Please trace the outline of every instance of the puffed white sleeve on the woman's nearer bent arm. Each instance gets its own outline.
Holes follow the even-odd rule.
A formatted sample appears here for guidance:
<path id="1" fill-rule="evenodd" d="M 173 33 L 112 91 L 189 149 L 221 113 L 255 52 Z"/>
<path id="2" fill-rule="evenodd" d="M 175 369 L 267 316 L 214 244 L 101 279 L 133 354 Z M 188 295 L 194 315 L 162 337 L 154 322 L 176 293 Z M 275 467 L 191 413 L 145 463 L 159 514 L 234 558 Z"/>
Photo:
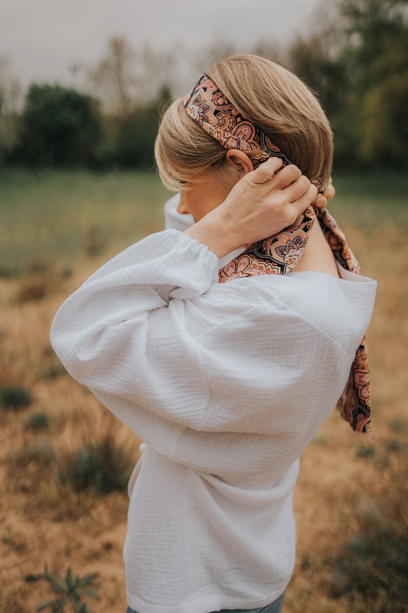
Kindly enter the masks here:
<path id="1" fill-rule="evenodd" d="M 218 257 L 198 240 L 158 232 L 99 268 L 51 326 L 70 375 L 163 453 L 184 425 L 199 425 L 207 403 L 201 349 L 180 306 L 205 292 L 217 270 Z"/>

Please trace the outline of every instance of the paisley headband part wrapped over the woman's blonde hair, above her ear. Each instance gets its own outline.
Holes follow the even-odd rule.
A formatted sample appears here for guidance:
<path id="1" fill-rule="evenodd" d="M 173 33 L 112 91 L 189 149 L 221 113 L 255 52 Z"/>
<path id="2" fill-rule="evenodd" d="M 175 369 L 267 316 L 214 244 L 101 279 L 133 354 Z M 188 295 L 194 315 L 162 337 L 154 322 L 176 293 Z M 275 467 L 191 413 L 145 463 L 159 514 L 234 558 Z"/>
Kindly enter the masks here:
<path id="1" fill-rule="evenodd" d="M 184 107 L 191 119 L 225 149 L 239 149 L 251 156 L 254 169 L 269 158 L 280 158 L 282 167 L 292 164 L 264 131 L 254 126 L 229 102 L 206 73 L 184 97 Z M 311 183 L 320 190 L 320 179 Z"/>

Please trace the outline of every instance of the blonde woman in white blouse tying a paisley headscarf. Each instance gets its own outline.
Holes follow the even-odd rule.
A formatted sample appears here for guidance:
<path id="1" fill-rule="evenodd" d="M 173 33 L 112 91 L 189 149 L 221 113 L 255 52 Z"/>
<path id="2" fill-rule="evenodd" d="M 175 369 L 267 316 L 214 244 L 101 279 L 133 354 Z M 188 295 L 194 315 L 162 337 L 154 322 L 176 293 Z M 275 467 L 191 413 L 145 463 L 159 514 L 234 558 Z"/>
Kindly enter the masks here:
<path id="1" fill-rule="evenodd" d="M 155 147 L 195 223 L 125 249 L 54 319 L 69 373 L 146 441 L 130 481 L 128 611 L 278 613 L 299 456 L 340 397 L 369 431 L 376 282 L 310 207 L 332 149 L 297 77 L 258 56 L 215 64 L 169 107 Z"/>

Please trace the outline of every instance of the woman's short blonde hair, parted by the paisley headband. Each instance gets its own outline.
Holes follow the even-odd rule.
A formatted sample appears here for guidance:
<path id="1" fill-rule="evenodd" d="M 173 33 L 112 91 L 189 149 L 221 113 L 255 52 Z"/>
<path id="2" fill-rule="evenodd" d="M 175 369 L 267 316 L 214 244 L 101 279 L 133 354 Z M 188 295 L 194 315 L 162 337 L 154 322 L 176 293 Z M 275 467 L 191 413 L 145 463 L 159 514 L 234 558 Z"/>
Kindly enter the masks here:
<path id="1" fill-rule="evenodd" d="M 210 79 L 234 106 L 261 128 L 309 179 L 328 184 L 333 134 L 311 90 L 289 70 L 256 55 L 235 55 L 213 64 Z M 226 149 L 187 115 L 183 98 L 166 110 L 155 142 L 155 159 L 171 191 L 210 173 L 225 188 L 239 179 L 226 163 Z M 251 156 L 250 156 L 251 157 Z"/>

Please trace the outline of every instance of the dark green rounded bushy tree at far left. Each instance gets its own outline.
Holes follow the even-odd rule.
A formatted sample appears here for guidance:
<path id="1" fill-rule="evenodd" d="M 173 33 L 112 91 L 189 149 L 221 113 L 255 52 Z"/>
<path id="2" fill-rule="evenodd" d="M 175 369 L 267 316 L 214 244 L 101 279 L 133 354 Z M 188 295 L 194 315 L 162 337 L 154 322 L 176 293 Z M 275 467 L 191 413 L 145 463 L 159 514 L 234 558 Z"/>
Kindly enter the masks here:
<path id="1" fill-rule="evenodd" d="M 21 116 L 17 159 L 50 166 L 87 164 L 99 138 L 97 104 L 90 96 L 59 85 L 31 85 Z"/>

